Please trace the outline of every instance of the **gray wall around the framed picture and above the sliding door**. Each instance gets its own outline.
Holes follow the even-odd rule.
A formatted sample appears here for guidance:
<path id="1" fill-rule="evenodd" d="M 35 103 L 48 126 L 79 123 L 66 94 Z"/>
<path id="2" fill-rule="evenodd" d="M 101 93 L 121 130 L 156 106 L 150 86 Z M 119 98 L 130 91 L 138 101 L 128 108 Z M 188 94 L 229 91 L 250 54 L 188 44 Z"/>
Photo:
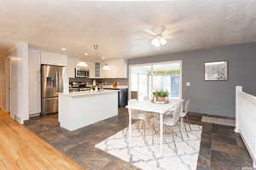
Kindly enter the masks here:
<path id="1" fill-rule="evenodd" d="M 256 95 L 256 42 L 207 48 L 186 53 L 161 54 L 128 59 L 128 64 L 183 61 L 183 99 L 191 98 L 190 111 L 218 116 L 235 116 L 235 87 Z M 204 63 L 228 60 L 228 82 L 205 82 Z M 190 87 L 185 83 L 191 82 Z"/>

